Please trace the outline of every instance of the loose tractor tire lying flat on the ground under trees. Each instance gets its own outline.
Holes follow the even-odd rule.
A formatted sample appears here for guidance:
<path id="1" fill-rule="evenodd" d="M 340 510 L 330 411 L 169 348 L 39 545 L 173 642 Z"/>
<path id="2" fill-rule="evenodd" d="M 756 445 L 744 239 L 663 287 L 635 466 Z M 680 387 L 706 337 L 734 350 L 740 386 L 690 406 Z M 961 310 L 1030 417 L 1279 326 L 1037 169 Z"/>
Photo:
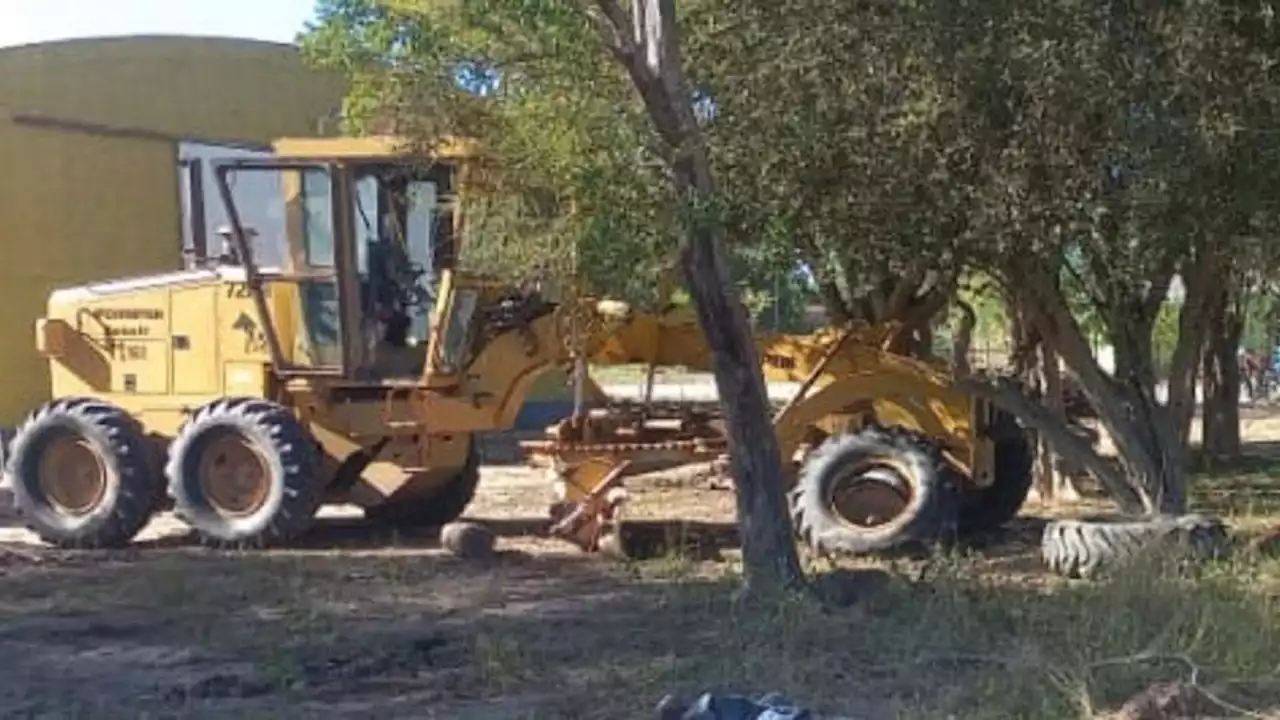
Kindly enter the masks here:
<path id="1" fill-rule="evenodd" d="M 1053 520 L 1041 537 L 1041 556 L 1059 575 L 1096 578 L 1152 547 L 1181 547 L 1207 559 L 1221 557 L 1229 546 L 1226 525 L 1201 514 Z"/>

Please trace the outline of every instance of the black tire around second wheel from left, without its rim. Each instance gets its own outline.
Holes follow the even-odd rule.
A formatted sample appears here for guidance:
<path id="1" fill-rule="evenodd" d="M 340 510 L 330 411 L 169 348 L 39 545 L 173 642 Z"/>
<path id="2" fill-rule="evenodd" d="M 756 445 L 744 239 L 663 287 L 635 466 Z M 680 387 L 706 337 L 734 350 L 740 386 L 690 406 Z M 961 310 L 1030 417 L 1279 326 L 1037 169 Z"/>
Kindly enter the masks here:
<path id="1" fill-rule="evenodd" d="M 210 441 L 223 433 L 247 439 L 269 471 L 268 497 L 243 516 L 220 512 L 201 488 L 198 468 Z M 211 547 L 287 544 L 306 533 L 324 498 L 315 441 L 293 414 L 255 397 L 223 398 L 196 410 L 169 446 L 165 475 L 174 514 Z"/>

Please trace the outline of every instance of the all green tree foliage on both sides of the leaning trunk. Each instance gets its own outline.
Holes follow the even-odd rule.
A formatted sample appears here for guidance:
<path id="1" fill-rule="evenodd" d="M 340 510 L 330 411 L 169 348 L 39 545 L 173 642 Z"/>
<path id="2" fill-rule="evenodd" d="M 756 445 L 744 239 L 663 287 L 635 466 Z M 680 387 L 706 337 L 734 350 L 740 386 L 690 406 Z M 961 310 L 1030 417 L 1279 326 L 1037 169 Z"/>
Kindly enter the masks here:
<path id="1" fill-rule="evenodd" d="M 722 187 L 716 210 L 758 316 L 786 273 L 835 320 L 924 328 L 966 273 L 982 273 L 1098 407 L 1125 462 L 1112 489 L 1181 505 L 1210 291 L 1261 287 L 1275 266 L 1270 5 L 680 8 Z M 558 209 L 535 228 L 495 210 L 516 219 L 495 219 L 480 245 L 513 252 L 516 270 L 575 258 L 595 290 L 662 300 L 678 220 L 662 152 L 585 5 L 325 0 L 319 18 L 305 45 L 357 81 L 356 118 L 390 111 L 420 137 L 479 137 L 502 163 L 490 197 L 544 193 Z M 476 68 L 499 81 L 463 87 Z M 1115 348 L 1114 374 L 1093 359 L 1094 337 Z M 1167 404 L 1155 401 L 1161 375 Z M 1064 429 L 986 391 L 1051 437 Z"/>

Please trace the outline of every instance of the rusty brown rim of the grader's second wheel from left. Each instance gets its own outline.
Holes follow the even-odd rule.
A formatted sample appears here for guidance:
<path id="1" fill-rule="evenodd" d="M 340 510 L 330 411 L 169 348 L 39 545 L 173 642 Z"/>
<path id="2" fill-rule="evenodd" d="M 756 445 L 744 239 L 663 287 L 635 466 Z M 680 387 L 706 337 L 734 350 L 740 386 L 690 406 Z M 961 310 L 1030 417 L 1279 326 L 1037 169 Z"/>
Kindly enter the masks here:
<path id="1" fill-rule="evenodd" d="M 212 438 L 200 455 L 200 489 L 218 512 L 252 515 L 270 492 L 270 470 L 256 445 L 237 432 Z"/>

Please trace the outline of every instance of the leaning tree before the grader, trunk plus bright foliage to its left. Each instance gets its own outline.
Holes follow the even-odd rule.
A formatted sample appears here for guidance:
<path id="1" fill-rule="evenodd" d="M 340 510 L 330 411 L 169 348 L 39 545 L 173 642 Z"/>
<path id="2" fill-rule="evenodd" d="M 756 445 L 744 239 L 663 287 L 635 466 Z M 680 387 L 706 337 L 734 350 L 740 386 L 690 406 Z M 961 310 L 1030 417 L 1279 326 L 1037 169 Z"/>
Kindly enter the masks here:
<path id="1" fill-rule="evenodd" d="M 730 275 L 723 199 L 685 81 L 673 12 L 671 0 L 634 12 L 614 0 L 590 8 L 337 0 L 321 5 L 307 47 L 312 59 L 365 79 L 355 97 L 372 97 L 380 117 L 403 118 L 401 132 L 484 141 L 502 165 L 495 187 L 486 188 L 488 208 L 535 191 L 557 196 L 570 208 L 573 255 L 588 260 L 584 279 L 596 288 L 643 295 L 676 258 L 713 352 L 746 584 L 790 588 L 804 577 L 781 451 L 746 309 Z M 460 68 L 477 64 L 500 77 L 495 96 L 477 97 L 457 81 Z M 499 245 L 515 242 L 527 227 L 516 215 L 512 223 L 511 214 L 494 213 L 472 234 L 499 228 Z M 512 227 L 515 233 L 500 232 Z M 529 261 L 520 258 L 517 265 Z"/>

